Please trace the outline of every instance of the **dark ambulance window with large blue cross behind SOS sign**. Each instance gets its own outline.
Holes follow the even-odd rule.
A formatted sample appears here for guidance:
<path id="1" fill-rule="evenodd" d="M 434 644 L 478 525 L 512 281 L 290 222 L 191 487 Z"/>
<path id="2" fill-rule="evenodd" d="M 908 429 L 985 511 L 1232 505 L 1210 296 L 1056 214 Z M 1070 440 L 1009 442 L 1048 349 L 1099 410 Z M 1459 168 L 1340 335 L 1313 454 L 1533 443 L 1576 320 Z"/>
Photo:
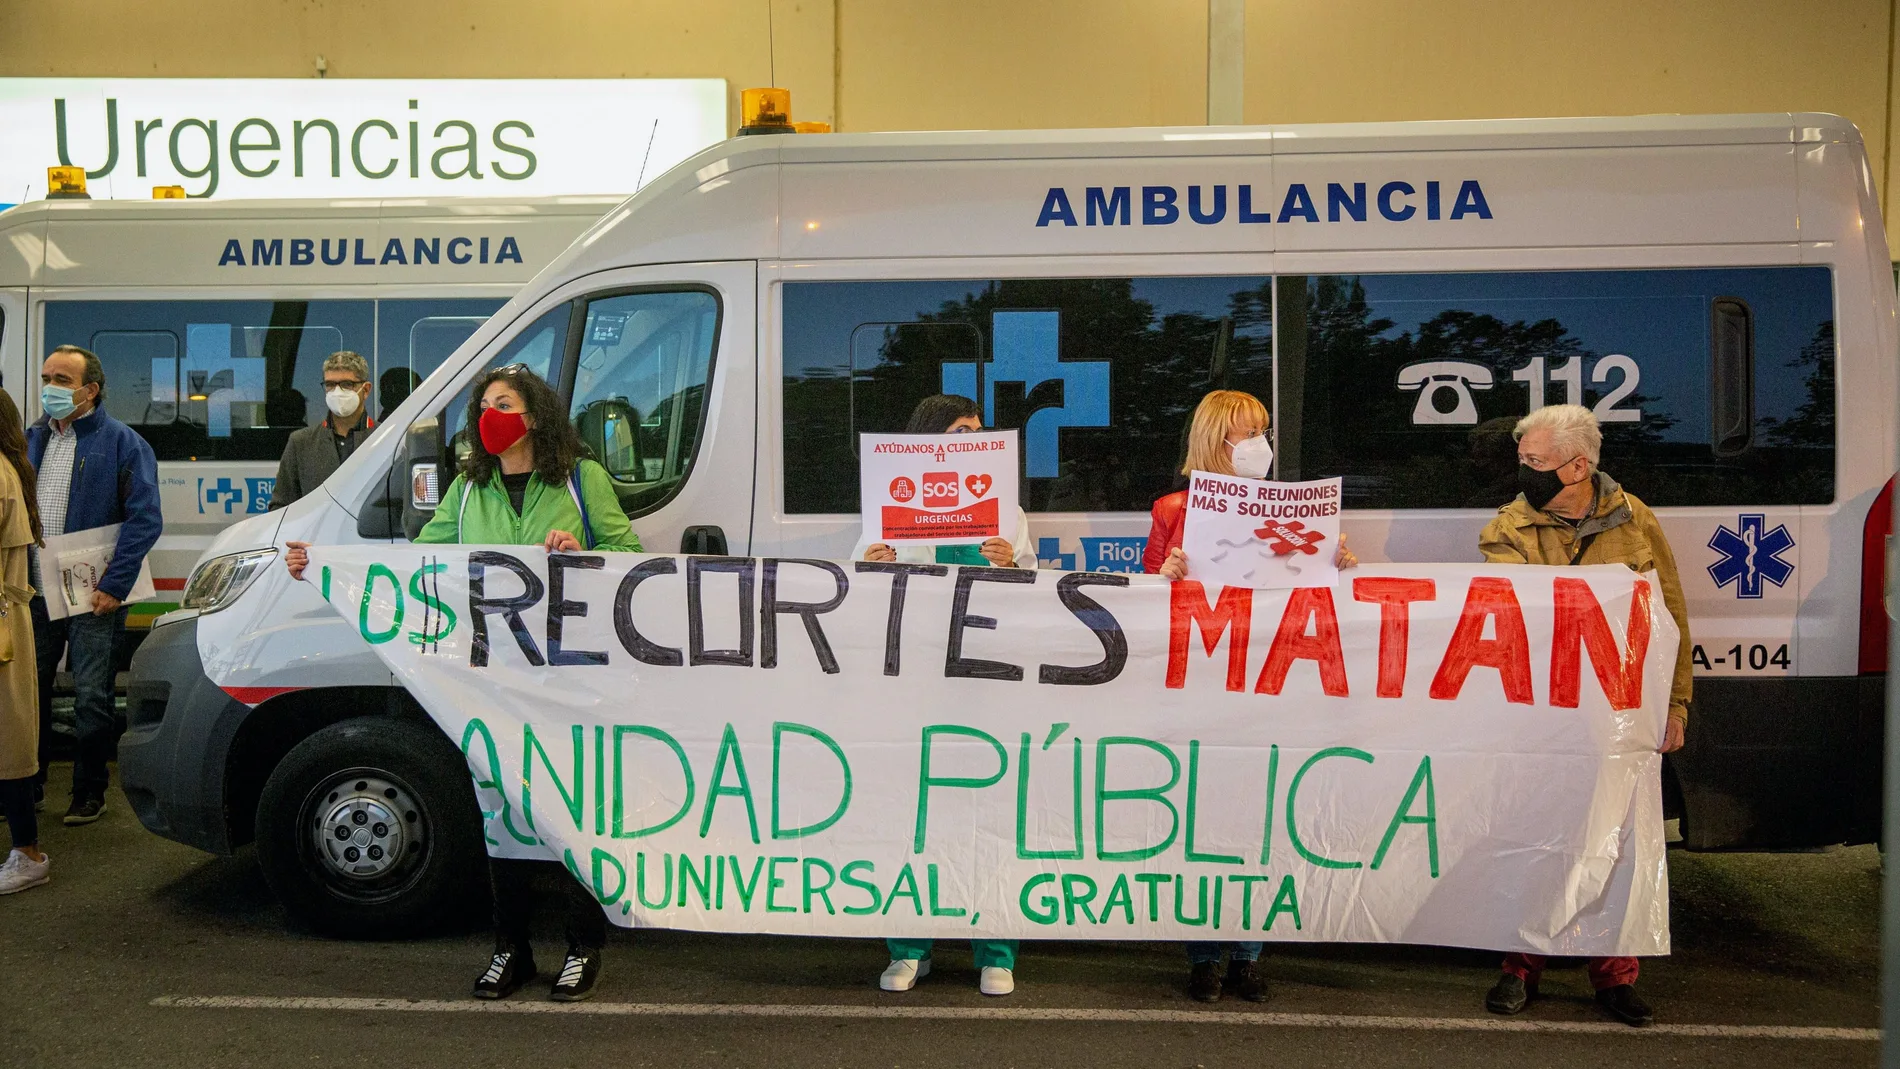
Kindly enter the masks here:
<path id="1" fill-rule="evenodd" d="M 1022 431 L 1022 507 L 1146 513 L 1174 488 L 1193 406 L 1271 406 L 1262 275 L 785 285 L 785 511 L 855 513 L 857 435 L 960 393 Z"/>

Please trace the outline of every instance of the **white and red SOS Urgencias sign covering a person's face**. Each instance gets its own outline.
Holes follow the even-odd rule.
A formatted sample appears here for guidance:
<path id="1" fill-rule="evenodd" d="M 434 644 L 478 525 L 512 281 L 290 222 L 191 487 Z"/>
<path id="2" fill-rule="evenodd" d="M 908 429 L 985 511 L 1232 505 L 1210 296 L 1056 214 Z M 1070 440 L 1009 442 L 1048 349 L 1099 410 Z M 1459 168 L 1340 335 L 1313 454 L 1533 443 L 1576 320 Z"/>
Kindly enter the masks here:
<path id="1" fill-rule="evenodd" d="M 1016 431 L 859 435 L 857 452 L 866 543 L 969 545 L 1015 534 Z"/>

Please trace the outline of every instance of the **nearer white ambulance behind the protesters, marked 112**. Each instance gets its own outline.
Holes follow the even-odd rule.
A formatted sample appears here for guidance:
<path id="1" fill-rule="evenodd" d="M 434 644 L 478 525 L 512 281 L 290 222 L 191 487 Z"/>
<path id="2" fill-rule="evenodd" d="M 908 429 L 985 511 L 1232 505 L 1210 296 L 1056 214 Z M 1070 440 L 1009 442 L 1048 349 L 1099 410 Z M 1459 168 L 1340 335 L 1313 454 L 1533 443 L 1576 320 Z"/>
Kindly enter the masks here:
<path id="1" fill-rule="evenodd" d="M 331 930 L 479 898 L 456 742 L 281 553 L 420 530 L 466 385 L 528 363 L 650 549 L 847 554 L 857 433 L 948 391 L 1022 429 L 1041 564 L 1075 570 L 1138 568 L 1212 387 L 1267 401 L 1279 477 L 1345 478 L 1366 560 L 1474 560 L 1512 422 L 1588 404 L 1687 591 L 1685 845 L 1868 841 L 1894 357 L 1834 116 L 735 139 L 602 218 L 321 494 L 218 535 L 135 663 L 125 792 L 162 835 L 256 839 Z M 336 845 L 359 813 L 372 853 Z"/>

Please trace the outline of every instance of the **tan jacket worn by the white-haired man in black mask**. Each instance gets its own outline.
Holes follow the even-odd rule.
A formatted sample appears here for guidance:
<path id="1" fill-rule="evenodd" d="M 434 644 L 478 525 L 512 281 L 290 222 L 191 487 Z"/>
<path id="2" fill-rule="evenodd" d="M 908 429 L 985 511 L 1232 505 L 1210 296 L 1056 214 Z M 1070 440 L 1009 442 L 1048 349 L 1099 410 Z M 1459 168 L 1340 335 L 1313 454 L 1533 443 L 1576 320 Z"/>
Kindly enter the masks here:
<path id="1" fill-rule="evenodd" d="M 1682 630 L 1682 644 L 1676 647 L 1676 682 L 1670 685 L 1668 714 L 1689 720 L 1689 697 L 1693 676 L 1689 668 L 1689 606 L 1682 598 L 1682 579 L 1676 575 L 1676 554 L 1662 537 L 1662 524 L 1657 522 L 1649 505 L 1634 494 L 1626 494 L 1617 480 L 1596 473 L 1596 513 L 1571 528 L 1564 520 L 1531 509 L 1530 501 L 1518 499 L 1497 509 L 1497 518 L 1484 526 L 1478 535 L 1478 549 L 1490 564 L 1571 564 L 1577 543 L 1596 535 L 1585 549 L 1577 564 L 1628 564 L 1638 573 L 1655 572 L 1662 581 L 1662 604 L 1668 615 L 1676 617 Z"/>

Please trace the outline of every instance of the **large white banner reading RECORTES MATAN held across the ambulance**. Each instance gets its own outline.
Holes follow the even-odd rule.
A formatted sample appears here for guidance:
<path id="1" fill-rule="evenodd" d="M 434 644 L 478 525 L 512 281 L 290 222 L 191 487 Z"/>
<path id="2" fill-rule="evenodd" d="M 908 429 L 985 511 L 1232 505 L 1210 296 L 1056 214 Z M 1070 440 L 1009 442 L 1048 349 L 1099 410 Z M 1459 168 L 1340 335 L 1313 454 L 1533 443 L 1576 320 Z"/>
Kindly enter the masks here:
<path id="1" fill-rule="evenodd" d="M 621 925 L 1668 951 L 1676 627 L 1621 566 L 1338 587 L 317 547 L 490 851 Z"/>

